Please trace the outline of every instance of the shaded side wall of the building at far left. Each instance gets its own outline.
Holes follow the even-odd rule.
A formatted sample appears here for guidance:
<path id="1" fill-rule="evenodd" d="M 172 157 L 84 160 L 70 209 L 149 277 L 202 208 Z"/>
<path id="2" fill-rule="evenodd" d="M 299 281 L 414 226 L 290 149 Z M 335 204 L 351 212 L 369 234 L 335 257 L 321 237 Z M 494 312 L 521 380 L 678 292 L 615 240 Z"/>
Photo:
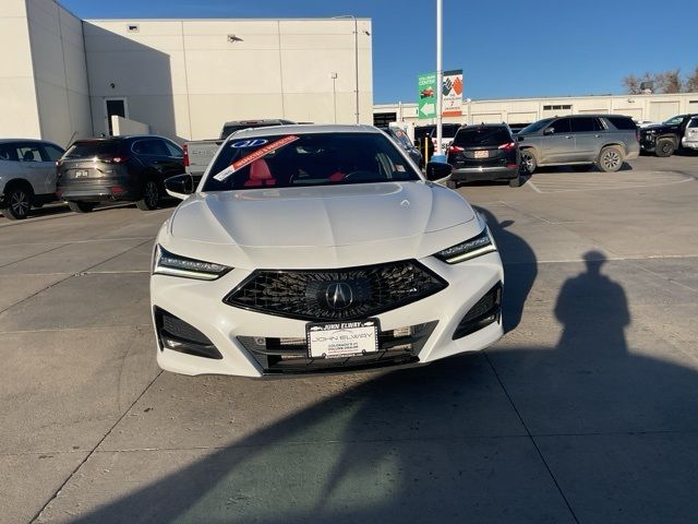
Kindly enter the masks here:
<path id="1" fill-rule="evenodd" d="M 65 147 L 93 134 L 82 21 L 55 0 L 26 0 L 26 15 L 40 136 Z"/>

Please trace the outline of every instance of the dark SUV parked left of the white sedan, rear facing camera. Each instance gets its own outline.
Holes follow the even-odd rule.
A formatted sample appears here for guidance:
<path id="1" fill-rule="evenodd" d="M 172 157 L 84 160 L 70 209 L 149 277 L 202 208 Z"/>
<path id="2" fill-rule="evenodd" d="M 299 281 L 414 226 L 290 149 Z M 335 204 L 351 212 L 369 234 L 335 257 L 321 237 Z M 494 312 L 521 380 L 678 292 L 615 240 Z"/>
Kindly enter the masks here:
<path id="1" fill-rule="evenodd" d="M 57 162 L 56 194 L 77 213 L 104 201 L 154 210 L 166 195 L 165 179 L 184 172 L 182 158 L 180 146 L 161 136 L 79 140 Z"/>

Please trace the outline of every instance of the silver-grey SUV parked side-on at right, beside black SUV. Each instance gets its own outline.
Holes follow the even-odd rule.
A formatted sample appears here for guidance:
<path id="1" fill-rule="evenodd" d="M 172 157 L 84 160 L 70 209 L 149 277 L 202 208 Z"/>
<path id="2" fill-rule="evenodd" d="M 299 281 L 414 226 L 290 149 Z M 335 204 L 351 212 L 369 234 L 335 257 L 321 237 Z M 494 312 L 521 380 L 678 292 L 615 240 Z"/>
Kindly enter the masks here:
<path id="1" fill-rule="evenodd" d="M 544 118 L 517 134 L 521 169 L 532 174 L 539 166 L 571 166 L 586 171 L 594 165 L 617 171 L 625 160 L 640 154 L 638 128 L 621 115 L 574 115 Z"/>

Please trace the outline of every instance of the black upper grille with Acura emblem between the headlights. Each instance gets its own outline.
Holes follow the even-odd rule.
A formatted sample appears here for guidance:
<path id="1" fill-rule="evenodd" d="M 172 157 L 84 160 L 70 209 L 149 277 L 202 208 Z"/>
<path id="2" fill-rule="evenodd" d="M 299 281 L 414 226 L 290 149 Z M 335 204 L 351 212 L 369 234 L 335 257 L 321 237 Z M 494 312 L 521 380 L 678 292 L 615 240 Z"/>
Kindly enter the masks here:
<path id="1" fill-rule="evenodd" d="M 420 300 L 447 285 L 417 261 L 341 270 L 261 270 L 224 302 L 291 319 L 358 320 Z"/>

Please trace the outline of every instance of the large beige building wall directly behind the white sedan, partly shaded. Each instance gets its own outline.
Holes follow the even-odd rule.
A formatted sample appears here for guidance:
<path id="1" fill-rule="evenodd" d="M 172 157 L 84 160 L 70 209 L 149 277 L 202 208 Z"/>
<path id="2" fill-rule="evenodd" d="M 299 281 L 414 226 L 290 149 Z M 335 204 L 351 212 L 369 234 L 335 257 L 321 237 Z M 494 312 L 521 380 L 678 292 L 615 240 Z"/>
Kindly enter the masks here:
<path id="1" fill-rule="evenodd" d="M 226 120 L 373 121 L 371 22 L 358 20 L 85 21 L 95 133 L 105 100 L 173 139 L 208 139 Z M 333 74 L 336 73 L 336 79 Z"/>

